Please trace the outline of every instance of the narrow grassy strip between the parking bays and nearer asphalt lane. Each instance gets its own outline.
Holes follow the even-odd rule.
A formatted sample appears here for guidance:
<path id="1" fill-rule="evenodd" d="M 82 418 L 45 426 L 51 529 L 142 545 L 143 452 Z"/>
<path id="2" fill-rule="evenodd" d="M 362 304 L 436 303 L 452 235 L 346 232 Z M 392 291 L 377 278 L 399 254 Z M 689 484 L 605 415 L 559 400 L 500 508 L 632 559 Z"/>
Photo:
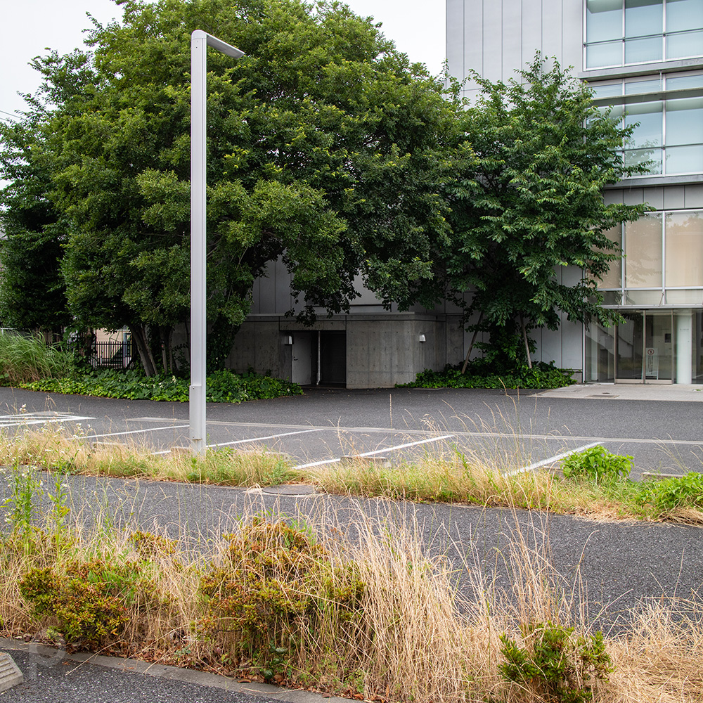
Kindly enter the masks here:
<path id="1" fill-rule="evenodd" d="M 292 466 L 280 453 L 252 444 L 222 446 L 204 458 L 188 451 L 153 453 L 138 444 L 96 444 L 91 432 L 67 437 L 58 427 L 0 436 L 0 465 L 11 472 L 49 470 L 110 477 L 219 484 L 275 486 L 301 482 L 330 494 L 382 496 L 409 501 L 468 503 L 493 507 L 548 510 L 604 519 L 636 518 L 703 524 L 703 475 L 691 473 L 662 481 L 631 482 L 629 460 L 600 446 L 564 453 L 565 476 L 534 463 L 515 471 L 514 460 L 447 444 L 441 436 L 401 444 L 424 453 L 398 463 L 369 460 L 383 450 L 356 458 Z M 441 441 L 440 441 L 441 440 Z M 392 449 L 392 448 L 391 448 Z M 519 463 L 520 464 L 520 463 Z M 609 468 L 614 467 L 614 468 Z M 610 472 L 609 472 L 610 471 Z"/>

